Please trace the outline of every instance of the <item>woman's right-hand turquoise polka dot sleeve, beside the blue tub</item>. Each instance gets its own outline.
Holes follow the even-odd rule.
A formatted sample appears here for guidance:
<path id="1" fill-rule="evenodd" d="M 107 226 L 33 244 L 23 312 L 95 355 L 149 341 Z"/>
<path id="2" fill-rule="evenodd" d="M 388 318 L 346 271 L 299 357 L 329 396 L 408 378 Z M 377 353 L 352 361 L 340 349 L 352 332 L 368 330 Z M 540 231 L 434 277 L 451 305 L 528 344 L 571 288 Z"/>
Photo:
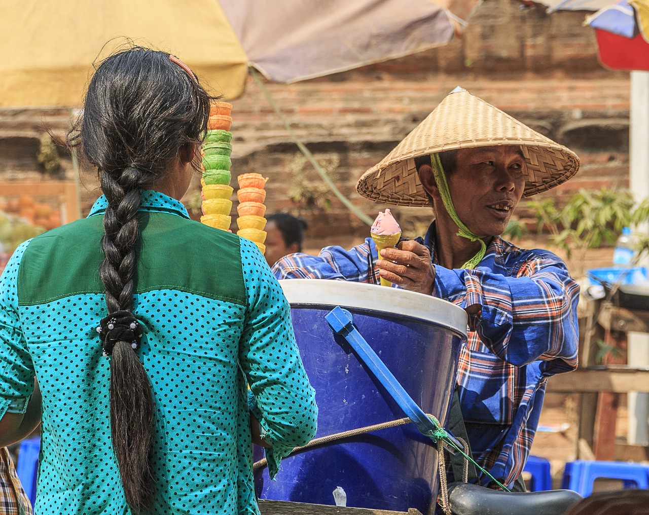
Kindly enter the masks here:
<path id="1" fill-rule="evenodd" d="M 251 387 L 271 478 L 282 457 L 315 435 L 317 407 L 295 343 L 288 301 L 254 243 L 241 238 L 247 293 L 239 362 Z"/>

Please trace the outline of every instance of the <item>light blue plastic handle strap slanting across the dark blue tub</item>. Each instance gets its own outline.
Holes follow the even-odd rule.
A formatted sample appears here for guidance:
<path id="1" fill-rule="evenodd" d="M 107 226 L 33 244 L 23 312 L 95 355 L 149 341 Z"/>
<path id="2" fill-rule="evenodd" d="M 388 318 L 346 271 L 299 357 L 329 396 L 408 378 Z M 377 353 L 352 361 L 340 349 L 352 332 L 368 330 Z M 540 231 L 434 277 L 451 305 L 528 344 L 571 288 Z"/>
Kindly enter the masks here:
<path id="1" fill-rule="evenodd" d="M 358 329 L 354 327 L 352 314 L 347 311 L 347 309 L 343 309 L 337 305 L 332 309 L 332 311 L 327 313 L 324 318 L 334 333 L 341 335 L 345 340 L 347 340 L 352 349 L 356 352 L 356 355 L 358 355 L 358 359 L 360 359 L 361 363 L 364 363 L 367 368 L 372 371 L 374 376 L 376 376 L 376 379 L 378 379 L 387 390 L 388 394 L 395 400 L 406 416 L 408 416 L 408 418 L 410 418 L 410 420 L 412 420 L 417 426 L 417 429 L 419 429 L 422 434 L 432 437 L 433 431 L 435 431 L 437 427 L 435 427 L 435 424 L 433 424 L 432 420 L 426 416 L 426 413 L 422 411 L 417 403 L 412 400 L 411 396 L 397 380 L 397 377 L 393 376 L 386 364 L 383 363 L 382 359 L 378 357 L 378 355 L 376 355 L 376 352 L 374 352 L 373 348 L 371 348 L 367 341 L 365 341 L 361 336 Z M 459 449 L 463 448 L 453 435 L 448 433 L 448 437 L 450 440 L 453 440 L 453 443 L 456 444 Z"/>

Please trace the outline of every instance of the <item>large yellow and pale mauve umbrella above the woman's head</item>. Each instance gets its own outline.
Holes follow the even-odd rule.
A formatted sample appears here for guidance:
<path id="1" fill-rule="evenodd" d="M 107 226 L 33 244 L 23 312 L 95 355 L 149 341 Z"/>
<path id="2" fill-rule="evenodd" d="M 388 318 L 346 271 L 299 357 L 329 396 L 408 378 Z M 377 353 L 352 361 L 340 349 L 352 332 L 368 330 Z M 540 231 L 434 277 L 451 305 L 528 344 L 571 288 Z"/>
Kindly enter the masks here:
<path id="1" fill-rule="evenodd" d="M 134 43 L 235 98 L 248 66 L 293 82 L 442 45 L 478 0 L 3 0 L 0 107 L 79 106 L 92 63 Z"/>

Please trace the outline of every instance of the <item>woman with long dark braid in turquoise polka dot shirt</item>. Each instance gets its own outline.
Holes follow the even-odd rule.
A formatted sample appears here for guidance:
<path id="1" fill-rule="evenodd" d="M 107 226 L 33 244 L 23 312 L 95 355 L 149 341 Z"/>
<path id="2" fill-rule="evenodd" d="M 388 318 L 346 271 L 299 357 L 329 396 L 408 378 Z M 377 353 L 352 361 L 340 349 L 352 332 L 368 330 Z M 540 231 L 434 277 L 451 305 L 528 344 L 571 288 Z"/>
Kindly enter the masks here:
<path id="1" fill-rule="evenodd" d="M 179 202 L 209 112 L 174 56 L 104 60 L 68 138 L 103 196 L 19 246 L 1 278 L 0 446 L 33 427 L 36 377 L 37 514 L 258 514 L 252 439 L 274 475 L 315 433 L 265 259 Z"/>

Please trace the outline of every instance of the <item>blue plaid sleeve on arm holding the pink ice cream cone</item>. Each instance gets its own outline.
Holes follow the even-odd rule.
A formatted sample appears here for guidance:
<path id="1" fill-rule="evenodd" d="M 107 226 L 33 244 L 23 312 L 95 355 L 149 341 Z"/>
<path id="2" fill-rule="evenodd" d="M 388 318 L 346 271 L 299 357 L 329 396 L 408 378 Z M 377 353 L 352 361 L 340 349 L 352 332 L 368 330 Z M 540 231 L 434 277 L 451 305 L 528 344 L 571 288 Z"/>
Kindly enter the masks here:
<path id="1" fill-rule="evenodd" d="M 551 252 L 524 252 L 514 268 L 515 276 L 508 276 L 487 267 L 438 266 L 434 294 L 472 306 L 472 328 L 503 361 L 522 366 L 540 359 L 544 375 L 574 370 L 578 283 Z"/>

